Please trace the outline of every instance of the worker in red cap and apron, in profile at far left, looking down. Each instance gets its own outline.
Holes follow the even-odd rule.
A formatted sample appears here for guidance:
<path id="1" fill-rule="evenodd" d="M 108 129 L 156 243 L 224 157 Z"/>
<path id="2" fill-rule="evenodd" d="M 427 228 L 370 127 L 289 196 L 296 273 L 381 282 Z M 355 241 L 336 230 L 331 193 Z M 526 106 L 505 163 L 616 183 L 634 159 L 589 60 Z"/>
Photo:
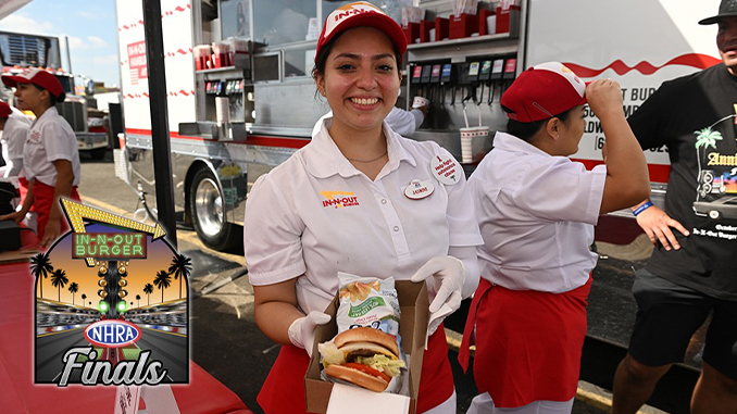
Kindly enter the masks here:
<path id="1" fill-rule="evenodd" d="M 40 247 L 45 248 L 66 227 L 59 198 L 79 200 L 76 190 L 80 176 L 77 140 L 55 108 L 66 96 L 59 79 L 43 70 L 3 75 L 2 81 L 15 88 L 17 106 L 33 112 L 36 121 L 30 125 L 23 148 L 23 174 L 28 181 L 28 191 L 21 210 L 0 216 L 0 219 L 21 222 L 33 206 Z"/>

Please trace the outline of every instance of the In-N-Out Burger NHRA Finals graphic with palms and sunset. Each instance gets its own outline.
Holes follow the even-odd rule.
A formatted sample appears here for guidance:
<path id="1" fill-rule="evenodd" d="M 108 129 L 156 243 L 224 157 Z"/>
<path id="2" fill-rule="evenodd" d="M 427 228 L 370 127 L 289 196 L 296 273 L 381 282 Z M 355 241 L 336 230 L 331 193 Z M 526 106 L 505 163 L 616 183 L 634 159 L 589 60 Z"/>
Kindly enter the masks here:
<path id="1" fill-rule="evenodd" d="M 159 224 L 60 201 L 72 230 L 29 266 L 34 382 L 187 384 L 191 259 Z"/>

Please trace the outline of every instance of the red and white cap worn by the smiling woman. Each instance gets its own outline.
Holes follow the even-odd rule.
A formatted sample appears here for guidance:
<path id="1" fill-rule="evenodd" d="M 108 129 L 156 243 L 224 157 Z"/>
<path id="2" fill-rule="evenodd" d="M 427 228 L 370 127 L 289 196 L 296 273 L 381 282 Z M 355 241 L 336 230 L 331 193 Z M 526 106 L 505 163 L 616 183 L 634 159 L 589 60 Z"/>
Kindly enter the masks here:
<path id="1" fill-rule="evenodd" d="M 317 40 L 315 59 L 320 49 L 327 45 L 336 35 L 353 27 L 373 27 L 385 34 L 399 50 L 400 58 L 407 51 L 404 30 L 389 17 L 382 9 L 366 1 L 357 1 L 336 9 L 325 20 L 323 33 Z"/>

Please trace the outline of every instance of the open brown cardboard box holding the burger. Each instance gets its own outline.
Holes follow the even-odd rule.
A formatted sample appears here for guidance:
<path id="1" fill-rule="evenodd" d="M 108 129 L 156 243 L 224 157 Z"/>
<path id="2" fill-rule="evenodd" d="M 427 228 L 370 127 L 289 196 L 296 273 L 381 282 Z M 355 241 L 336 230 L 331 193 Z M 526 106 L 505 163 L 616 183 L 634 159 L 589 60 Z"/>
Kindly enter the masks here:
<path id="1" fill-rule="evenodd" d="M 396 281 L 397 296 L 399 298 L 399 308 L 401 315 L 399 318 L 399 334 L 402 337 L 402 349 L 404 353 L 411 355 L 410 359 L 410 414 L 414 414 L 417 403 L 417 391 L 420 390 L 420 371 L 422 369 L 422 359 L 425 352 L 425 338 L 427 337 L 427 323 L 429 321 L 429 299 L 427 298 L 427 288 L 425 283 L 414 284 L 409 280 Z M 323 381 L 320 378 L 322 365 L 320 363 L 320 352 L 317 343 L 326 342 L 338 334 L 338 327 L 335 324 L 335 314 L 338 310 L 339 298 L 336 293 L 333 302 L 327 306 L 325 313 L 333 317 L 329 324 L 317 326 L 315 330 L 315 342 L 312 349 L 312 360 L 304 377 L 304 392 L 307 400 L 307 411 L 310 413 L 325 413 L 327 403 L 330 400 L 333 384 Z M 373 392 L 365 390 L 365 392 Z"/>

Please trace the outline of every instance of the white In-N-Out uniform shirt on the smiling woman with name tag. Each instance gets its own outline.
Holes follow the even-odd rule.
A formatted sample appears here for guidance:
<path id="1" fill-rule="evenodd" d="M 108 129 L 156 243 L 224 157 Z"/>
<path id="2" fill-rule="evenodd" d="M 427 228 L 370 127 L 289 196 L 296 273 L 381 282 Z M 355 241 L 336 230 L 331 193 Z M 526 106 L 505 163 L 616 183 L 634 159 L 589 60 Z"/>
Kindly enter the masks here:
<path id="1" fill-rule="evenodd" d="M 430 174 L 430 159 L 451 156 L 446 150 L 402 138 L 384 123 L 389 161 L 372 181 L 342 155 L 325 123 L 248 196 L 243 251 L 252 285 L 303 274 L 299 306 L 322 312 L 338 290 L 339 271 L 409 279 L 451 246 L 482 243 L 465 178 L 446 186 Z M 413 179 L 430 180 L 435 191 L 409 199 Z"/>

